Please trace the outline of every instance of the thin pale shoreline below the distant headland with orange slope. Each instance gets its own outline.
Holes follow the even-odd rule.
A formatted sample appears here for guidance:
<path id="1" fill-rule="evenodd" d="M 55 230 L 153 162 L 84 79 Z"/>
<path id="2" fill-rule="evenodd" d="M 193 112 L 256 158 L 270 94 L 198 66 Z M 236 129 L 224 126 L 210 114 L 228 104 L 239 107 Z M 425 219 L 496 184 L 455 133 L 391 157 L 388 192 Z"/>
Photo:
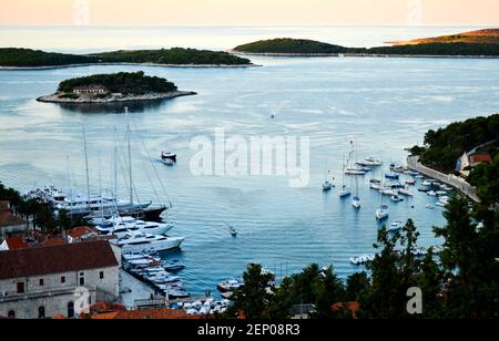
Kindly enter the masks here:
<path id="1" fill-rule="evenodd" d="M 499 55 L 461 55 L 461 54 L 369 54 L 369 53 L 281 53 L 281 52 L 242 52 L 230 50 L 234 55 L 284 56 L 284 58 L 428 58 L 428 59 L 499 59 Z"/>

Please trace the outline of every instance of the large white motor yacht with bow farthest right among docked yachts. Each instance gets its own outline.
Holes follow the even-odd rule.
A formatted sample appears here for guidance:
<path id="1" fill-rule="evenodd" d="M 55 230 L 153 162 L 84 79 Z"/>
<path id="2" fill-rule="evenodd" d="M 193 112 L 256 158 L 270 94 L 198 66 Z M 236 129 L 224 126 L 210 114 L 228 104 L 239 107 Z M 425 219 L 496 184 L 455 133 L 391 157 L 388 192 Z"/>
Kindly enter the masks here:
<path id="1" fill-rule="evenodd" d="M 151 252 L 175 249 L 185 240 L 183 237 L 166 237 L 157 235 L 145 235 L 142 232 L 128 232 L 123 238 L 113 241 L 124 252 Z"/>

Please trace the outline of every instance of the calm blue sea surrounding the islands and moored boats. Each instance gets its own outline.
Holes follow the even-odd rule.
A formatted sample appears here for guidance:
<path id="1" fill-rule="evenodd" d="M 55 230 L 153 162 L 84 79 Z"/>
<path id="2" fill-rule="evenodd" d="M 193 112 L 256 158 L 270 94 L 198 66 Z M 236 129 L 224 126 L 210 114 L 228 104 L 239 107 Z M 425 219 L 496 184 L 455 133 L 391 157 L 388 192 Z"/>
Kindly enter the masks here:
<path id="1" fill-rule="evenodd" d="M 292 37 L 349 46 L 468 31 L 471 27 L 0 27 L 0 46 L 89 53 L 118 49 L 191 46 L 228 50 L 258 39 Z M 128 198 L 126 118 L 123 107 L 82 108 L 38 103 L 59 82 L 77 76 L 144 71 L 181 90 L 197 92 L 130 108 L 135 199 L 173 204 L 163 218 L 174 223 L 182 248 L 162 254 L 180 260 L 180 273 L 193 294 L 215 291 L 227 277 L 241 277 L 258 262 L 278 279 L 307 265 L 334 266 L 342 277 L 361 271 L 350 257 L 373 254 L 380 224 L 380 196 L 369 179 L 383 178 L 388 164 L 405 164 L 405 148 L 424 143 L 428 130 L 499 111 L 499 61 L 418 58 L 261 58 L 259 68 L 175 69 L 101 65 L 72 69 L 0 71 L 0 180 L 27 192 L 53 184 L 85 188 L 83 128 L 86 134 L 93 193 L 118 192 Z M 274 117 L 274 118 L 273 118 Z M 307 177 L 302 187 L 289 176 L 200 175 L 192 161 L 196 142 L 215 133 L 308 141 Z M 361 208 L 340 200 L 342 176 L 352 144 L 355 157 L 375 156 L 385 164 L 358 177 Z M 119 153 L 114 157 L 114 146 Z M 215 149 L 215 147 L 214 147 Z M 175 152 L 179 163 L 164 166 L 161 152 Z M 213 151 L 215 153 L 215 151 Z M 115 162 L 116 161 L 116 162 Z M 309 169 L 308 169 L 309 168 Z M 323 182 L 336 188 L 323 193 Z M 403 176 L 403 180 L 406 176 Z M 440 245 L 432 228 L 442 226 L 436 198 L 416 193 L 390 206 L 386 221 L 413 219 L 419 246 Z M 238 231 L 232 237 L 227 226 Z"/>

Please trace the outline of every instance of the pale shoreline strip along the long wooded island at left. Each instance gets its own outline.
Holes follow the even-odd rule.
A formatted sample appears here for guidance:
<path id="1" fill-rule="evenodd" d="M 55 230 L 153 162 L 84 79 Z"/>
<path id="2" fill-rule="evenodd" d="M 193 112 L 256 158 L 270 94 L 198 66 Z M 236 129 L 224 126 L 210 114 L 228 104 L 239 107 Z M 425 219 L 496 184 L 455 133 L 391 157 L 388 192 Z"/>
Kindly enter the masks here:
<path id="1" fill-rule="evenodd" d="M 177 68 L 177 69 L 245 69 L 245 68 L 261 68 L 256 64 L 156 64 L 156 63 L 83 63 L 83 64 L 68 64 L 68 65 L 47 65 L 47 66 L 0 66 L 0 71 L 37 71 L 37 70 L 57 70 L 70 68 L 86 68 L 86 66 L 154 66 L 154 68 Z"/>

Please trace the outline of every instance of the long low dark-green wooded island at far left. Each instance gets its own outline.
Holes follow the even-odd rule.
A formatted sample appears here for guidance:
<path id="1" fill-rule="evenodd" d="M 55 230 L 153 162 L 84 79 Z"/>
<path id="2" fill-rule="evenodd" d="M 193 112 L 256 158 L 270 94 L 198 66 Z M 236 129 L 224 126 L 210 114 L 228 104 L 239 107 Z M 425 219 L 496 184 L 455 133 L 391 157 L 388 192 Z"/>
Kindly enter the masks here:
<path id="1" fill-rule="evenodd" d="M 94 64 L 139 64 L 176 68 L 247 68 L 249 60 L 227 52 L 195 49 L 131 50 L 65 54 L 30 49 L 0 49 L 1 69 L 54 69 Z"/>

